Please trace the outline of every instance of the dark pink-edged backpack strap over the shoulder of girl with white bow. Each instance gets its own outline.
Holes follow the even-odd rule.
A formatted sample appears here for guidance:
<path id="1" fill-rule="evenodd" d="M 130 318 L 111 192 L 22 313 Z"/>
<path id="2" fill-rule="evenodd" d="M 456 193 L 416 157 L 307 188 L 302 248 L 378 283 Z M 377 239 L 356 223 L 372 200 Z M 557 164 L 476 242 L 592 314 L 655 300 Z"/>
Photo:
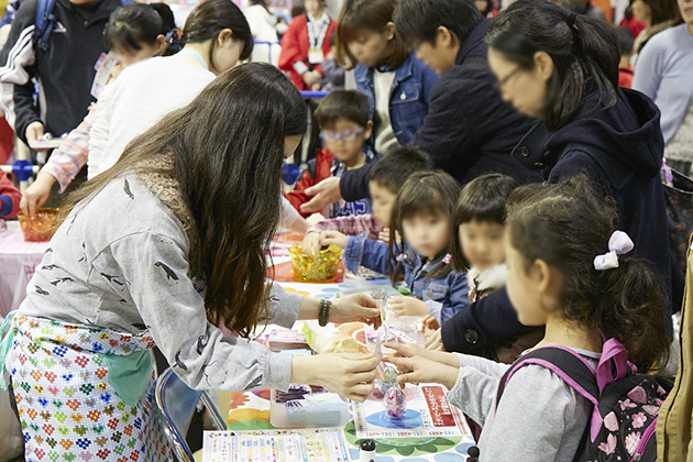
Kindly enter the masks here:
<path id="1" fill-rule="evenodd" d="M 594 369 L 571 349 L 544 346 L 520 356 L 501 378 L 496 393 L 496 408 L 513 375 L 521 367 L 530 364 L 548 369 L 594 406 L 598 405 L 600 387 Z"/>

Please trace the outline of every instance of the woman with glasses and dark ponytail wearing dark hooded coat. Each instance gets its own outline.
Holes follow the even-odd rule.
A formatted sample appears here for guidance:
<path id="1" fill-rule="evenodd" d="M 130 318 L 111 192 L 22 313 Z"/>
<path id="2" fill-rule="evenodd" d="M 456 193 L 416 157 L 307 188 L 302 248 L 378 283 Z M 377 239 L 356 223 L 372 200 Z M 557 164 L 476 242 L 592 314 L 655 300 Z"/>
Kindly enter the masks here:
<path id="1" fill-rule="evenodd" d="M 670 309 L 678 311 L 683 278 L 671 256 L 659 179 L 660 112 L 644 95 L 618 88 L 619 50 L 609 25 L 524 0 L 498 15 L 486 41 L 503 98 L 540 119 L 513 156 L 550 183 L 584 173 L 613 197 L 619 229 L 636 243 L 636 256 L 654 270 Z M 446 323 L 442 340 L 448 351 L 474 352 L 520 332 L 507 295 L 496 293 Z"/>

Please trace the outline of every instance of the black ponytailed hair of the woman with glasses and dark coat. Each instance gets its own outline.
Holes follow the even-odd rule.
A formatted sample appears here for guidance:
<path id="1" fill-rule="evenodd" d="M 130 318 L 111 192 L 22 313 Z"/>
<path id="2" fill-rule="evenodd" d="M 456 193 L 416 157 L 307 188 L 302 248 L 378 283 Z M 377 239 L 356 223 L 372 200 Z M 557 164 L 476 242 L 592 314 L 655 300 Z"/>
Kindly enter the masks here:
<path id="1" fill-rule="evenodd" d="M 575 113 L 587 79 L 596 85 L 601 109 L 616 105 L 620 53 L 614 31 L 602 20 L 546 0 L 522 0 L 496 18 L 486 42 L 526 69 L 534 68 L 538 52 L 551 56 L 553 75 L 543 114 L 549 130 L 565 125 Z"/>

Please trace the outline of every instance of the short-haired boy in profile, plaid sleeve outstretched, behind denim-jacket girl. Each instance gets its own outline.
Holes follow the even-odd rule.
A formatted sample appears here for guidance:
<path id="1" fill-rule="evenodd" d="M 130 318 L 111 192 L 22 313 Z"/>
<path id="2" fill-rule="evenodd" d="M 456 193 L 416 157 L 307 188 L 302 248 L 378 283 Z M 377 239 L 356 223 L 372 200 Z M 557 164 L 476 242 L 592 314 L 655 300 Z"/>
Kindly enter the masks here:
<path id="1" fill-rule="evenodd" d="M 369 239 L 389 242 L 389 220 L 397 194 L 415 172 L 433 168 L 430 157 L 415 147 L 397 147 L 383 157 L 370 172 L 369 189 L 372 215 L 341 217 L 321 221 L 308 230 L 304 249 L 310 252 L 321 246 L 322 233 L 337 231 L 344 235 L 369 233 Z"/>

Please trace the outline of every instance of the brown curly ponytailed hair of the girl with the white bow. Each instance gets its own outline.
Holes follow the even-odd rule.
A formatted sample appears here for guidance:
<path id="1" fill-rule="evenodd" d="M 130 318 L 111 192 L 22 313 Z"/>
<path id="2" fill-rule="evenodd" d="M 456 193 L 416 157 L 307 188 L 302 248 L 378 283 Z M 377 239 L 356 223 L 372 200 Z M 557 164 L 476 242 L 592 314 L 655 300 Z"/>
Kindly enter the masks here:
<path id="1" fill-rule="evenodd" d="M 584 175 L 560 184 L 529 185 L 508 199 L 508 233 L 526 267 L 542 260 L 564 277 L 561 315 L 626 346 L 640 371 L 663 367 L 669 354 L 669 309 L 650 266 L 619 255 L 619 267 L 596 271 L 616 230 L 613 198 Z"/>

